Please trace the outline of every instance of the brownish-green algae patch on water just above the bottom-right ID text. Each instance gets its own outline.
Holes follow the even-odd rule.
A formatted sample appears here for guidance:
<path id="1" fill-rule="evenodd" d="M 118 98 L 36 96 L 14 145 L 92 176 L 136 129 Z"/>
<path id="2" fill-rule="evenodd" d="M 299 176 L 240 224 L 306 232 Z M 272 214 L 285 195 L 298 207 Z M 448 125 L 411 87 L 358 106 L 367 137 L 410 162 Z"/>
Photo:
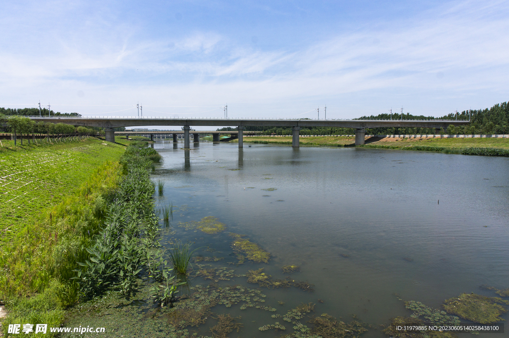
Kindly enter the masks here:
<path id="1" fill-rule="evenodd" d="M 501 321 L 499 316 L 507 309 L 501 304 L 509 301 L 499 297 L 485 297 L 475 293 L 462 293 L 459 297 L 446 299 L 443 303 L 445 311 L 475 323 L 490 324 Z"/>

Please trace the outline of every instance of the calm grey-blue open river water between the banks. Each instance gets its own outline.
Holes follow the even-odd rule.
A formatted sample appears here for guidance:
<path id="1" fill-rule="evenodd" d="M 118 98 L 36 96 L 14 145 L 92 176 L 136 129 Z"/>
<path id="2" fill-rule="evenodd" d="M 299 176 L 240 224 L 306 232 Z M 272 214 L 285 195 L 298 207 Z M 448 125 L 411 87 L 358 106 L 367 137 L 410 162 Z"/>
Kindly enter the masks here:
<path id="1" fill-rule="evenodd" d="M 154 175 L 165 181 L 163 203 L 185 205 L 174 211 L 176 236 L 215 248 L 213 255 L 225 257 L 221 264 L 236 262 L 228 232 L 245 234 L 271 253 L 269 264 L 231 266 L 238 274 L 264 267 L 284 278 L 281 266 L 300 265 L 292 276 L 314 284 L 315 292 L 264 289 L 266 305 L 286 302 L 278 308 L 281 315 L 315 302 L 317 315 L 350 321 L 355 314 L 378 326 L 410 315 L 398 297 L 440 308 L 463 292 L 496 296 L 482 285 L 509 287 L 507 158 L 269 145 L 239 150 L 212 143 L 186 156 L 182 146 L 154 145 L 164 157 Z M 263 190 L 268 188 L 276 190 Z M 177 227 L 205 216 L 227 224 L 227 232 Z M 197 278 L 194 284 L 207 282 Z M 247 285 L 245 277 L 223 284 Z M 242 316 L 249 336 L 274 336 L 274 330 L 258 327 L 289 324 L 238 306 L 213 311 Z"/>

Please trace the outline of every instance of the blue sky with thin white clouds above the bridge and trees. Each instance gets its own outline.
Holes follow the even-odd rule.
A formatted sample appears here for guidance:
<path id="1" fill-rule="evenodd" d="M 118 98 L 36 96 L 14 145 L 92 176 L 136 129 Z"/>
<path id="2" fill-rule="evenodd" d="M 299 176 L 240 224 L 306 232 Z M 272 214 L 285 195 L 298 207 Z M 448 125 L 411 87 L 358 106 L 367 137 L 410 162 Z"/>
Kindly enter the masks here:
<path id="1" fill-rule="evenodd" d="M 489 0 L 3 0 L 0 107 L 438 117 L 509 100 L 508 14 Z"/>

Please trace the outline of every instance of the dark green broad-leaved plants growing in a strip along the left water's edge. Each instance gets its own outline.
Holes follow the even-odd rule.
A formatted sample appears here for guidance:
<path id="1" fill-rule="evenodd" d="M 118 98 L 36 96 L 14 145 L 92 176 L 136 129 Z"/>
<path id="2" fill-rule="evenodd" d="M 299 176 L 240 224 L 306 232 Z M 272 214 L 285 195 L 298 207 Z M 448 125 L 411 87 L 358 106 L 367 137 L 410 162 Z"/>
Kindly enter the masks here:
<path id="1" fill-rule="evenodd" d="M 172 269 L 166 267 L 162 251 L 157 248 L 159 218 L 152 199 L 154 184 L 149 177 L 152 165 L 149 155 L 153 155 L 150 150 L 130 146 L 121 158 L 125 176 L 116 199 L 94 244 L 87 247 L 89 259 L 79 263 L 75 270 L 74 279 L 84 298 L 99 295 L 110 287 L 129 295 L 137 289 L 142 271 L 149 280 L 157 282 L 151 291 L 161 306 L 171 301 L 176 292 L 178 284 L 173 282 Z"/>

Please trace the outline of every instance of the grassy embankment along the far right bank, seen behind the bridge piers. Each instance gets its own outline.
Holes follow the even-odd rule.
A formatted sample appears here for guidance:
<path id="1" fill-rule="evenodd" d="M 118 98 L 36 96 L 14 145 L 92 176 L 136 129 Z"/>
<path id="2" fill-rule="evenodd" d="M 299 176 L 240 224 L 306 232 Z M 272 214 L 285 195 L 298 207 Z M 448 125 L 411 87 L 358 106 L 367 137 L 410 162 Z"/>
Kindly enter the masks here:
<path id="1" fill-rule="evenodd" d="M 238 140 L 232 140 L 231 143 L 237 143 Z M 291 136 L 253 136 L 244 137 L 245 143 L 263 143 L 263 144 L 292 144 Z M 311 136 L 300 137 L 302 146 L 335 146 L 346 147 L 353 146 L 355 137 L 349 136 Z M 465 155 L 495 155 L 509 156 L 509 138 L 396 138 L 386 137 L 373 143 L 363 146 L 363 148 L 380 149 L 400 149 L 433 151 L 444 153 L 455 153 Z"/>

